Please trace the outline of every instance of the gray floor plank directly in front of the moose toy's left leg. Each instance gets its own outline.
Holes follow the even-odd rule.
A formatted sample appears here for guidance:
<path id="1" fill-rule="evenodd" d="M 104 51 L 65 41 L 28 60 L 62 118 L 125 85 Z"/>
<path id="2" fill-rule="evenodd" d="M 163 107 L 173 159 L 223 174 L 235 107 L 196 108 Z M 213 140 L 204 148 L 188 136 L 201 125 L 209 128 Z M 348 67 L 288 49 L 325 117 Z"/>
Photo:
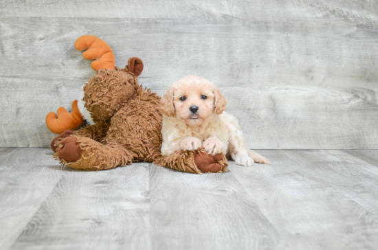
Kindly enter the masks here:
<path id="1" fill-rule="evenodd" d="M 65 170 L 11 249 L 151 249 L 148 163 Z"/>

